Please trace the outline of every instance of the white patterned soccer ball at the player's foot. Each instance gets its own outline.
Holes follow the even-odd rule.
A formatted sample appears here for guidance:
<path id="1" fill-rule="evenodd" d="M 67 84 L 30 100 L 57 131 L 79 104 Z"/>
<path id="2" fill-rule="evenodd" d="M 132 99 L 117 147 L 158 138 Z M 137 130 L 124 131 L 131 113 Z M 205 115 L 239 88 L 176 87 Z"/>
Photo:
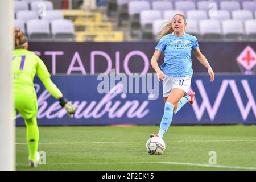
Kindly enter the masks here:
<path id="1" fill-rule="evenodd" d="M 166 143 L 164 140 L 159 137 L 152 137 L 147 140 L 146 150 L 148 154 L 163 154 L 164 150 L 166 150 Z"/>

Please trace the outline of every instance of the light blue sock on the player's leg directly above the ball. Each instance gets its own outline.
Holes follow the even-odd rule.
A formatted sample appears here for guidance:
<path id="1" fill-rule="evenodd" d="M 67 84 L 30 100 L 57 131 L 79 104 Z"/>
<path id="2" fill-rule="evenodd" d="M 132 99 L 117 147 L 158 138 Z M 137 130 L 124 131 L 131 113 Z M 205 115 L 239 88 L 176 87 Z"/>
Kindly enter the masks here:
<path id="1" fill-rule="evenodd" d="M 172 122 L 172 116 L 174 115 L 174 105 L 171 102 L 166 102 L 164 105 L 164 115 L 160 123 L 159 137 L 163 138 L 164 133 L 168 130 Z"/>

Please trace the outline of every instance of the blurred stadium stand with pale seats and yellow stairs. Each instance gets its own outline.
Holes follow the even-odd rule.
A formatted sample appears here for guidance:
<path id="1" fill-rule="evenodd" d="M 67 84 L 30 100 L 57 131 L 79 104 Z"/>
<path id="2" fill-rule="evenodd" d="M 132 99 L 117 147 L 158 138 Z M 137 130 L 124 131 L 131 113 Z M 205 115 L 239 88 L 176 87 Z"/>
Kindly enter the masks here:
<path id="1" fill-rule="evenodd" d="M 63 2 L 67 3 L 67 1 Z M 65 3 L 55 9 L 57 5 L 53 0 L 16 0 L 15 26 L 22 28 L 28 34 L 28 20 L 47 20 L 50 39 L 54 41 L 59 38 L 53 34 L 51 23 L 54 20 L 66 19 L 73 22 L 73 37 L 78 42 L 153 40 L 156 32 L 159 31 L 157 26 L 160 22 L 171 20 L 175 14 L 183 14 L 188 21 L 187 32 L 198 36 L 201 40 L 255 39 L 253 26 L 256 18 L 255 0 L 95 0 L 95 2 L 95 7 L 90 8 L 84 5 L 88 1 L 84 1 L 81 6 L 76 1 L 76 9 L 67 9 Z M 40 3 L 44 3 L 46 7 L 45 14 L 38 9 Z M 242 22 L 237 23 L 240 21 Z M 207 26 L 206 23 L 217 23 L 217 25 Z M 231 30 L 228 28 L 229 26 L 237 28 L 234 24 L 239 24 L 237 25 L 239 30 L 243 30 L 236 36 L 229 32 Z M 68 40 L 73 39 L 70 37 Z"/>

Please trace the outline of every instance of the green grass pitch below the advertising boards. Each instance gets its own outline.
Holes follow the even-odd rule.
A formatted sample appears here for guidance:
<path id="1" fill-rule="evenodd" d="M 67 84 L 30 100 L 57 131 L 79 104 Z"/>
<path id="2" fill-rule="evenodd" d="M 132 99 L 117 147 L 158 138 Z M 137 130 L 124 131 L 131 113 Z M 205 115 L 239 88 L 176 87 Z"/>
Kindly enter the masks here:
<path id="1" fill-rule="evenodd" d="M 158 126 L 39 127 L 46 164 L 27 167 L 26 128 L 16 127 L 16 170 L 256 170 L 256 126 L 171 126 L 166 151 L 149 155 Z M 210 151 L 216 165 L 209 164 Z"/>

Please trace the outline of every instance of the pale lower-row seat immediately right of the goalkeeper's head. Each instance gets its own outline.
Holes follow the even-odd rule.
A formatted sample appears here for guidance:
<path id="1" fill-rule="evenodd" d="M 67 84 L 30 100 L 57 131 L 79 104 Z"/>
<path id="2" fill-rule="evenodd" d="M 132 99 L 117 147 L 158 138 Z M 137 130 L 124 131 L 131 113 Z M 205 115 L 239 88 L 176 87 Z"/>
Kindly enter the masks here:
<path id="1" fill-rule="evenodd" d="M 30 41 L 51 40 L 49 22 L 47 20 L 32 19 L 27 21 L 27 35 Z"/>

